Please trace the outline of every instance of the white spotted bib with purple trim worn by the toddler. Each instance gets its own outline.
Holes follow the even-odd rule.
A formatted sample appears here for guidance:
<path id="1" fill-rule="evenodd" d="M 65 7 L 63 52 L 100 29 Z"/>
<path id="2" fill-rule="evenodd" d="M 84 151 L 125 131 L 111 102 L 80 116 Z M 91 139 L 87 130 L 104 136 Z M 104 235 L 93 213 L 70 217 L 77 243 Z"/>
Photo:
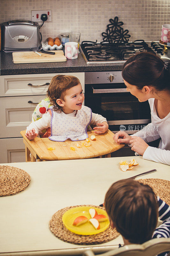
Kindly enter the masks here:
<path id="1" fill-rule="evenodd" d="M 92 110 L 86 106 L 82 106 L 77 111 L 76 116 L 69 116 L 63 112 L 58 113 L 51 110 L 51 136 L 48 138 L 54 141 L 65 141 L 70 139 L 72 141 L 85 140 L 88 138 L 87 126 L 92 120 Z"/>

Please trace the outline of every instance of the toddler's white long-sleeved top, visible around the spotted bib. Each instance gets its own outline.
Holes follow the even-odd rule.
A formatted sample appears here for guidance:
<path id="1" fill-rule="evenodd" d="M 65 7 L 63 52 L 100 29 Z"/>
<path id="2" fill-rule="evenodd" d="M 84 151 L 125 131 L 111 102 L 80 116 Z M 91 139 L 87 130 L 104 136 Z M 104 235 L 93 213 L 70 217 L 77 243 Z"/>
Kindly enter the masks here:
<path id="1" fill-rule="evenodd" d="M 76 110 L 73 113 L 67 114 L 68 116 L 76 116 Z M 107 122 L 106 118 L 99 115 L 92 113 L 92 120 L 90 124 L 99 126 L 97 123 Z M 51 115 L 49 112 L 45 113 L 39 120 L 32 122 L 29 126 L 26 127 L 26 132 L 29 130 L 35 129 L 36 133 L 41 132 L 44 129 L 51 127 Z"/>

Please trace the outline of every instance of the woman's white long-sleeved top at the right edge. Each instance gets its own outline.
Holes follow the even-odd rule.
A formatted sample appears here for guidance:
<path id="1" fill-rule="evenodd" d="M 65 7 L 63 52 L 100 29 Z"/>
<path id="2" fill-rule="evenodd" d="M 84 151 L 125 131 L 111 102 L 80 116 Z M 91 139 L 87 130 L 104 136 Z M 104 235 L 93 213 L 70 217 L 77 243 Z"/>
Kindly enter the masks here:
<path id="1" fill-rule="evenodd" d="M 146 143 L 161 138 L 159 147 L 147 147 L 143 158 L 157 163 L 170 165 L 170 112 L 163 119 L 157 116 L 154 98 L 149 99 L 151 108 L 151 124 L 146 125 L 141 131 L 132 136 L 142 138 Z"/>

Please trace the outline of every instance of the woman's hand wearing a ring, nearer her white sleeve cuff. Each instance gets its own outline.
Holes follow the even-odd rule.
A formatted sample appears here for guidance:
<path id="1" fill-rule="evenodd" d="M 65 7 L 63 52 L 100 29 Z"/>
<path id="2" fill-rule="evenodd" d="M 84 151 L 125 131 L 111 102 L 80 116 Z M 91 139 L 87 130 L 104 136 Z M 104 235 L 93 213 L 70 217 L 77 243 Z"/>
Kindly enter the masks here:
<path id="1" fill-rule="evenodd" d="M 141 156 L 144 155 L 144 151 L 147 147 L 149 147 L 149 145 L 144 140 L 137 136 L 132 136 L 129 143 L 132 146 L 131 150 L 137 152 Z"/>

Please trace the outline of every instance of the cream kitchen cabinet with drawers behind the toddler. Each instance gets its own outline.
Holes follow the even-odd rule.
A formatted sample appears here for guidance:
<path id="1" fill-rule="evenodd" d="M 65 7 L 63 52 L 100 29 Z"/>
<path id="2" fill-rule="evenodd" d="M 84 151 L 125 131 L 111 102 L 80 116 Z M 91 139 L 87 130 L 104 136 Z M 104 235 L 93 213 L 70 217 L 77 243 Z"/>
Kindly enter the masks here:
<path id="1" fill-rule="evenodd" d="M 58 74 L 0 76 L 0 163 L 25 162 L 20 131 L 30 124 L 34 108 L 46 98 L 49 83 Z M 85 73 L 62 73 L 66 74 L 78 77 L 84 92 Z"/>

